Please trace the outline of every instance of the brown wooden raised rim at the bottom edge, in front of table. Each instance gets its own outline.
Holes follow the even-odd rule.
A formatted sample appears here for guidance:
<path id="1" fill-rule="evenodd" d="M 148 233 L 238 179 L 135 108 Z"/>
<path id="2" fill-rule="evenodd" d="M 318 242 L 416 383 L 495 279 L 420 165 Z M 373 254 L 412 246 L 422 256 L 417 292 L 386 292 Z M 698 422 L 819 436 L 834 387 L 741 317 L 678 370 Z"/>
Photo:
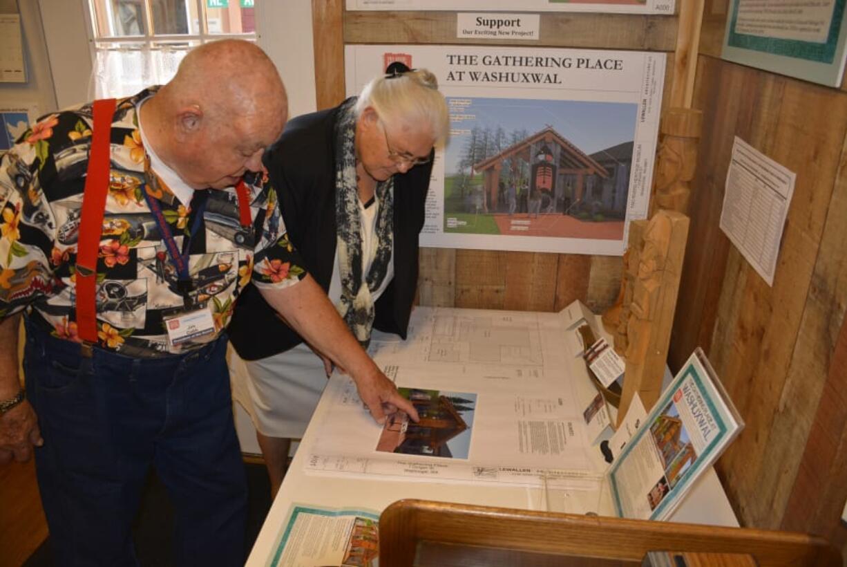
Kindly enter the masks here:
<path id="1" fill-rule="evenodd" d="M 418 542 L 640 561 L 649 551 L 749 553 L 761 567 L 840 567 L 817 536 L 401 500 L 379 520 L 379 564 L 412 565 Z"/>

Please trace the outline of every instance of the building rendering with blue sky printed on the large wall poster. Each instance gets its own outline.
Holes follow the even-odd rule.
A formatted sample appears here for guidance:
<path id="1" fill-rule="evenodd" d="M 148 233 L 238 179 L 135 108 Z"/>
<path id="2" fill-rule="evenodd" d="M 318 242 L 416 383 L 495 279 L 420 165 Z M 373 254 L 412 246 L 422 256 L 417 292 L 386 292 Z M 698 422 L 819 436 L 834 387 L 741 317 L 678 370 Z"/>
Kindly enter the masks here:
<path id="1" fill-rule="evenodd" d="M 619 240 L 638 105 L 448 97 L 444 231 Z"/>

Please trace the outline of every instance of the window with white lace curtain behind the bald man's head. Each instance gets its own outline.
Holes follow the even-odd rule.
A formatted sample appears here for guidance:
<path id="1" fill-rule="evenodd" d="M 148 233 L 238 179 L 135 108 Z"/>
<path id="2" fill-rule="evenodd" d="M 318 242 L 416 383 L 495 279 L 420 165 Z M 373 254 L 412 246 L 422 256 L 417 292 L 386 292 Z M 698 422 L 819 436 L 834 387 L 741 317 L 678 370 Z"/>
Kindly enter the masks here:
<path id="1" fill-rule="evenodd" d="M 255 0 L 89 0 L 91 97 L 126 97 L 170 81 L 192 47 L 256 41 Z"/>

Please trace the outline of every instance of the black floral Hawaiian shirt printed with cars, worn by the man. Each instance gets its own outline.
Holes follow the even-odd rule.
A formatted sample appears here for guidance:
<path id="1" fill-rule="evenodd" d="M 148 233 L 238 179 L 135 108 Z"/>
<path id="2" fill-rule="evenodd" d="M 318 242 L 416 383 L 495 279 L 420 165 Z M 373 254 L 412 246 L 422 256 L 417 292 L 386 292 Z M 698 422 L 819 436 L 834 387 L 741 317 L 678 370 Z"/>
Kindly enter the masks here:
<path id="1" fill-rule="evenodd" d="M 100 346 L 136 357 L 185 352 L 171 347 L 163 318 L 184 306 L 178 274 L 144 192 L 158 198 L 177 245 L 194 224 L 185 207 L 147 172 L 136 106 L 156 88 L 118 102 L 111 132 L 111 170 L 97 261 Z M 0 320 L 31 307 L 33 320 L 70 341 L 75 323 L 75 263 L 80 209 L 91 146 L 91 104 L 49 114 L 0 158 Z M 291 247 L 266 178 L 246 175 L 252 227 L 241 226 L 235 188 L 207 190 L 191 235 L 192 303 L 211 309 L 216 331 L 229 323 L 235 298 L 251 281 L 285 287 L 306 275 Z"/>

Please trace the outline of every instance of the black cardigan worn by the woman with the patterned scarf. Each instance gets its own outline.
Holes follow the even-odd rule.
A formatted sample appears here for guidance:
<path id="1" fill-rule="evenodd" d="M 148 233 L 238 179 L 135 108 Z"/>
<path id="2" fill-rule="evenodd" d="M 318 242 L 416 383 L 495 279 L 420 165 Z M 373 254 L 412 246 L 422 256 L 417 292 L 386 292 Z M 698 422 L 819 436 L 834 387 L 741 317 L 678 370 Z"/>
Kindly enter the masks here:
<path id="1" fill-rule="evenodd" d="M 264 156 L 291 243 L 318 284 L 329 291 L 335 259 L 335 122 L 340 107 L 304 114 L 285 125 Z M 406 338 L 418 283 L 418 234 L 432 163 L 394 176 L 394 279 L 375 304 L 374 327 Z M 302 337 L 276 316 L 252 284 L 235 303 L 230 341 L 242 359 L 282 353 Z"/>

